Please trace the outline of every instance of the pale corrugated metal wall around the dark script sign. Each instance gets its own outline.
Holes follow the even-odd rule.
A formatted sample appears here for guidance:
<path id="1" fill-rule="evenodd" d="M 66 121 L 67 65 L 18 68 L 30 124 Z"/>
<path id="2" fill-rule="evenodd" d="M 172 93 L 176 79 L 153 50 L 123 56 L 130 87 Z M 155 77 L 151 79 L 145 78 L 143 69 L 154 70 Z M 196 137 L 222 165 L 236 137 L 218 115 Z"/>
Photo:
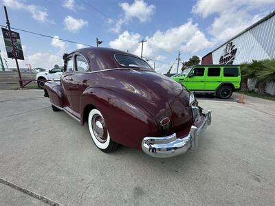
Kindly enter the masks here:
<path id="1" fill-rule="evenodd" d="M 275 58 L 275 16 L 232 39 L 232 43 L 237 48 L 234 64 Z M 219 64 L 225 46 L 212 52 L 213 64 Z M 275 95 L 275 84 L 268 84 L 266 92 Z"/>

